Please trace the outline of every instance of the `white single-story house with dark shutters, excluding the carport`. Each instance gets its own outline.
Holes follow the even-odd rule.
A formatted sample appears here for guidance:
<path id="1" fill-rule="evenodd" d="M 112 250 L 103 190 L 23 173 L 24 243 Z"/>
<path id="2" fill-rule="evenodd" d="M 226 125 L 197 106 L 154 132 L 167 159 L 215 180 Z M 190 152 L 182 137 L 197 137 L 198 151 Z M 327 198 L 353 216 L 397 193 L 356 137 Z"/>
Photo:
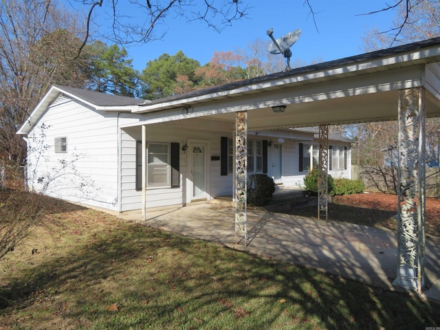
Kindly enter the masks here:
<path id="1" fill-rule="evenodd" d="M 19 131 L 27 135 L 30 149 L 29 184 L 90 206 L 142 209 L 140 123 L 149 115 L 139 110 L 152 103 L 52 86 Z M 147 209 L 186 206 L 234 192 L 234 124 L 209 115 L 195 118 L 188 106 L 178 111 L 177 120 L 157 120 L 146 129 Z M 283 113 L 271 109 L 267 116 Z M 289 126 L 250 129 L 248 175 L 265 173 L 277 186 L 303 186 L 309 168 L 318 164 L 317 133 Z M 350 142 L 329 135 L 333 177 L 351 177 Z"/>

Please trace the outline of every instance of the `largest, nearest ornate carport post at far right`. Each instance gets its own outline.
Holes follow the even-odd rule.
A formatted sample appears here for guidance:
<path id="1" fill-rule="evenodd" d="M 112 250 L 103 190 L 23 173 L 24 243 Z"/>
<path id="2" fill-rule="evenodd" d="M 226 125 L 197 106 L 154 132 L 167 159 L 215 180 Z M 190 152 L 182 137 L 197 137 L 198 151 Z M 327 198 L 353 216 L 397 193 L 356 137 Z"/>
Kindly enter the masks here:
<path id="1" fill-rule="evenodd" d="M 399 91 L 397 278 L 393 285 L 421 292 L 425 280 L 424 89 Z"/>

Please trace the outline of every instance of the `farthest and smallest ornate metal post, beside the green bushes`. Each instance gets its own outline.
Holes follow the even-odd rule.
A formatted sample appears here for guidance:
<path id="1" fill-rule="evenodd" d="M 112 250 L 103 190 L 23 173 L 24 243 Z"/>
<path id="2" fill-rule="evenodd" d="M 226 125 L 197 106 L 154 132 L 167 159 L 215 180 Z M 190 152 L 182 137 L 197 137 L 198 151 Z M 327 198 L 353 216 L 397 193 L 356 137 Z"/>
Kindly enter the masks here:
<path id="1" fill-rule="evenodd" d="M 329 185 L 329 125 L 319 125 L 319 162 L 318 162 L 318 219 L 328 217 Z"/>

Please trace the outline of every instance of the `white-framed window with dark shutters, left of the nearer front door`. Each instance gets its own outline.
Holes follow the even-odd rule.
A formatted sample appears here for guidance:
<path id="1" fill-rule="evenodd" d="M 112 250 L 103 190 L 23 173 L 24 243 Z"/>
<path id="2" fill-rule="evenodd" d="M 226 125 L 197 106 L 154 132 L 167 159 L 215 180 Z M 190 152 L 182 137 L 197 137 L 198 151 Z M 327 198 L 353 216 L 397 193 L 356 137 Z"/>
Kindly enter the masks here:
<path id="1" fill-rule="evenodd" d="M 147 155 L 148 187 L 169 187 L 171 185 L 170 144 L 148 143 Z"/>

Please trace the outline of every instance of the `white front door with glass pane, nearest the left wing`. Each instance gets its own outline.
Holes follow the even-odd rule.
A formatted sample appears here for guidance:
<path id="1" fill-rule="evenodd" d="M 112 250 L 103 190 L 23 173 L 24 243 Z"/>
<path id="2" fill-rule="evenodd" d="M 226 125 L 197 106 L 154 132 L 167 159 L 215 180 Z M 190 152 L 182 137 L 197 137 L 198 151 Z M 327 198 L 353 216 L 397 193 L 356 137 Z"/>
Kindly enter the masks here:
<path id="1" fill-rule="evenodd" d="M 191 157 L 192 199 L 206 198 L 206 146 L 193 144 Z"/>

